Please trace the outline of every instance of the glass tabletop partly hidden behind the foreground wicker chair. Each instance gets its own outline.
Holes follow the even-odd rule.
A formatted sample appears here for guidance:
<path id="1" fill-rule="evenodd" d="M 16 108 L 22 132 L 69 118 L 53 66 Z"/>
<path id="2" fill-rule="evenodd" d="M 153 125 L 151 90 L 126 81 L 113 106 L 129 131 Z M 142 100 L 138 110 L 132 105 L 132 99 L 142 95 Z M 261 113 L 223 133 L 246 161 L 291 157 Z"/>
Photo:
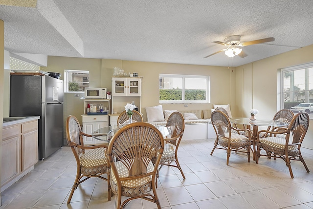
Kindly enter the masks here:
<path id="1" fill-rule="evenodd" d="M 156 128 L 161 132 L 163 138 L 169 136 L 171 134 L 171 130 L 166 126 L 155 125 Z M 114 134 L 120 129 L 117 125 L 106 126 L 95 130 L 91 133 L 92 138 L 110 142 Z"/>

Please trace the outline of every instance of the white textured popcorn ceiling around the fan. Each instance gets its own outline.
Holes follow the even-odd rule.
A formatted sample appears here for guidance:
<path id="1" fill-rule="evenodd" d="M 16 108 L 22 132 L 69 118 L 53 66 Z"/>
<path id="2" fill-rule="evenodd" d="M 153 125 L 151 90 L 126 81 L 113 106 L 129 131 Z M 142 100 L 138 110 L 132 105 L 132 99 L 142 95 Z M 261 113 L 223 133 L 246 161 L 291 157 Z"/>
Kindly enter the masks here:
<path id="1" fill-rule="evenodd" d="M 10 52 L 236 67 L 312 45 L 312 8 L 313 0 L 37 0 L 0 5 L 0 19 Z M 245 58 L 203 59 L 231 35 L 275 41 L 243 47 Z"/>

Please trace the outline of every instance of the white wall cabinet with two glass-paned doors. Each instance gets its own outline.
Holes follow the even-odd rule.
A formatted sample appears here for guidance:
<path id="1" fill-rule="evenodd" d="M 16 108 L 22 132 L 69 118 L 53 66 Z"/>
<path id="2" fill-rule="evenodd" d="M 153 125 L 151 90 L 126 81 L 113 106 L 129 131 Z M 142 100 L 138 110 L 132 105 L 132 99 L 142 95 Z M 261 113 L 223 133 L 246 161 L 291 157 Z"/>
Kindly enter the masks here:
<path id="1" fill-rule="evenodd" d="M 113 77 L 112 96 L 141 96 L 141 77 Z"/>

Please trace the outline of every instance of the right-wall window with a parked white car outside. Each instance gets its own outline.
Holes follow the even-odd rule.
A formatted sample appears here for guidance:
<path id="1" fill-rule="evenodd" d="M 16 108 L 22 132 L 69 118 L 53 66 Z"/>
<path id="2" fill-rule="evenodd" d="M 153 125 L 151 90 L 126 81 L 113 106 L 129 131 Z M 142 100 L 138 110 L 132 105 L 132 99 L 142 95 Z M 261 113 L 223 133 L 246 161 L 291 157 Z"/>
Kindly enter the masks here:
<path id="1" fill-rule="evenodd" d="M 313 103 L 313 63 L 282 69 L 281 80 L 283 108 L 291 109 L 295 113 L 311 112 L 310 115 L 313 115 L 313 108 L 292 108 L 297 105 L 305 106 L 301 103 Z"/>

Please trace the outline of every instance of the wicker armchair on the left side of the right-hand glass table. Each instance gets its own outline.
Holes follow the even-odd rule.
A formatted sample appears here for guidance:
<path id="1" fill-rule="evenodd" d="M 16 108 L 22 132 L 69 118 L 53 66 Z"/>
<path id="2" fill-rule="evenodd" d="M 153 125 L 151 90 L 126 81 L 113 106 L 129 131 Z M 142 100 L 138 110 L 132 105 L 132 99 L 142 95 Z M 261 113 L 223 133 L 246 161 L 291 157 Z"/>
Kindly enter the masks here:
<path id="1" fill-rule="evenodd" d="M 211 121 L 216 133 L 216 140 L 211 155 L 215 149 L 226 150 L 226 164 L 228 165 L 231 151 L 243 152 L 247 153 L 248 162 L 250 162 L 251 131 L 249 129 L 237 129 L 232 127 L 227 115 L 219 110 L 213 111 Z M 245 135 L 233 133 L 232 130 L 236 132 L 244 131 Z M 242 149 L 245 150 L 243 151 Z"/>

